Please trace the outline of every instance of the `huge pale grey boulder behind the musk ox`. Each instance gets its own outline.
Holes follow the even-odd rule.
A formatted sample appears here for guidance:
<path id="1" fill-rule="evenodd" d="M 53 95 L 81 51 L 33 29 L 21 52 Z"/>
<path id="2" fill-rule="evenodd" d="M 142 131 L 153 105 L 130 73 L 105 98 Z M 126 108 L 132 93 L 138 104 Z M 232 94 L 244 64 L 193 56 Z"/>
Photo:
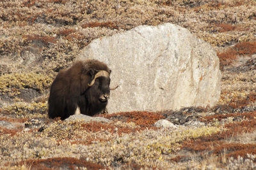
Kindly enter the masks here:
<path id="1" fill-rule="evenodd" d="M 214 106 L 220 61 L 211 45 L 178 25 L 139 26 L 95 39 L 77 60 L 98 59 L 112 69 L 108 111 L 179 110 Z"/>

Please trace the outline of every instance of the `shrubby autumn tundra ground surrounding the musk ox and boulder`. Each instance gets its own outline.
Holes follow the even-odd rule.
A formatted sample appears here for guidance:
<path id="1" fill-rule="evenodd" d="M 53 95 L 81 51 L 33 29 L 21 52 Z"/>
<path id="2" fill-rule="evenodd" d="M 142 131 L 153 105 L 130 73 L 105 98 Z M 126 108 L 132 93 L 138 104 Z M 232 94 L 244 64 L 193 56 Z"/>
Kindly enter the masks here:
<path id="1" fill-rule="evenodd" d="M 0 169 L 256 169 L 255 0 L 3 0 L 0 20 Z M 54 76 L 84 46 L 166 22 L 214 46 L 214 108 L 47 118 Z"/>

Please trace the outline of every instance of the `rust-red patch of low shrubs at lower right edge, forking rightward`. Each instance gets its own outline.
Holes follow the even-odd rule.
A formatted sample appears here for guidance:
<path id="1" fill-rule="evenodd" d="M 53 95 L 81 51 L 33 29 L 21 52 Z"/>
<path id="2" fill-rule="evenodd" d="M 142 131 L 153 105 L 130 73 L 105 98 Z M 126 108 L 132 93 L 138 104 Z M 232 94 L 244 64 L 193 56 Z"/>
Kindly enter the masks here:
<path id="1" fill-rule="evenodd" d="M 188 151 L 195 151 L 206 154 L 214 153 L 219 156 L 221 153 L 225 152 L 225 157 L 234 157 L 236 159 L 238 156 L 248 158 L 247 153 L 255 155 L 256 144 L 241 144 L 224 141 L 225 139 L 232 139 L 240 134 L 252 133 L 255 131 L 255 112 L 252 113 L 249 118 L 249 120 L 246 119 L 242 122 L 231 122 L 225 124 L 225 131 L 217 132 L 211 136 L 185 141 L 182 144 L 182 148 Z"/>

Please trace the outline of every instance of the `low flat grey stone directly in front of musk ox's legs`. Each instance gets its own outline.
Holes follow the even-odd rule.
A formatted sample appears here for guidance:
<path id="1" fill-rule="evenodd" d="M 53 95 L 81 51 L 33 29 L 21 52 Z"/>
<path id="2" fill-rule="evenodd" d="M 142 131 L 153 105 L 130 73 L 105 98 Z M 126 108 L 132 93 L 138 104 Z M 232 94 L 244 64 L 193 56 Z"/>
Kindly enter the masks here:
<path id="1" fill-rule="evenodd" d="M 111 120 L 109 120 L 108 118 L 103 118 L 103 117 L 90 117 L 87 115 L 83 115 L 83 114 L 79 114 L 79 115 L 72 115 L 68 118 L 65 119 L 65 121 L 76 121 L 76 120 L 83 120 L 84 122 L 90 122 L 90 121 L 94 121 L 94 122 L 106 122 L 109 123 L 111 122 Z"/>

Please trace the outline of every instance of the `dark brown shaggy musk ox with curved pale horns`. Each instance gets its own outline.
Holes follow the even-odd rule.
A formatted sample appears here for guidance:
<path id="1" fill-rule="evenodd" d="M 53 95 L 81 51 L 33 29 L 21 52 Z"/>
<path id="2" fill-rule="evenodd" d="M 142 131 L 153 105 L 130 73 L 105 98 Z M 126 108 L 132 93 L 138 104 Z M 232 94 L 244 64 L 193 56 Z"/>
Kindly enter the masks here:
<path id="1" fill-rule="evenodd" d="M 106 110 L 111 70 L 99 60 L 78 61 L 62 69 L 52 82 L 48 101 L 49 118 L 61 120 L 76 113 L 93 116 Z"/>

